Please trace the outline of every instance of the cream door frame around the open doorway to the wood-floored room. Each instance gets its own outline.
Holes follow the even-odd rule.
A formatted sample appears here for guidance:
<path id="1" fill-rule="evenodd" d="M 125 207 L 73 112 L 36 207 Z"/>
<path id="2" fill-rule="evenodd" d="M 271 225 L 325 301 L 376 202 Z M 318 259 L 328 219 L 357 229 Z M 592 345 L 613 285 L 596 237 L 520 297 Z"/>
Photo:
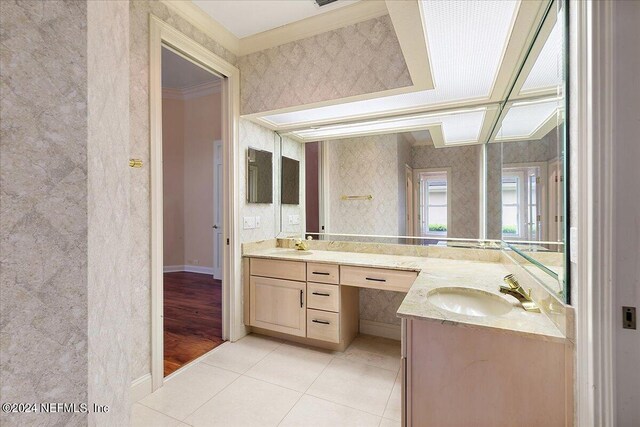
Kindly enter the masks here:
<path id="1" fill-rule="evenodd" d="M 151 133 L 151 376 L 153 390 L 164 381 L 163 339 L 163 218 L 162 218 L 162 46 L 224 77 L 222 80 L 222 140 L 224 141 L 224 231 L 229 244 L 224 251 L 222 282 L 222 335 L 235 341 L 245 334 L 239 229 L 237 150 L 240 117 L 240 71 L 204 46 L 150 15 L 149 115 Z"/>

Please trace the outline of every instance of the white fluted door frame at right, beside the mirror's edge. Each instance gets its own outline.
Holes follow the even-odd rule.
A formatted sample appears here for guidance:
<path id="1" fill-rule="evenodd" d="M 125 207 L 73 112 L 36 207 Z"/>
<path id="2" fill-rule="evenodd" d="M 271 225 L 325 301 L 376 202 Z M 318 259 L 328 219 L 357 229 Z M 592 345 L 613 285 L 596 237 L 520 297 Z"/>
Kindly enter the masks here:
<path id="1" fill-rule="evenodd" d="M 570 132 L 576 155 L 578 236 L 572 264 L 576 307 L 576 421 L 616 425 L 613 285 L 613 7 L 575 1 L 571 13 Z M 574 164 L 575 164 L 574 163 Z M 565 176 L 566 178 L 566 176 Z M 571 247 L 569 248 L 571 250 Z"/>

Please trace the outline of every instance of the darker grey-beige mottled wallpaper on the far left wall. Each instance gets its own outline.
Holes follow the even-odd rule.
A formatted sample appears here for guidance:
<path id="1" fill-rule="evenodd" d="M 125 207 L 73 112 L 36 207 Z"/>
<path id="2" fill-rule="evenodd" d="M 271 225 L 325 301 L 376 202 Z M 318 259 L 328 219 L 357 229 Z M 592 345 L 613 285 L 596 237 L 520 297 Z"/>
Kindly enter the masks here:
<path id="1" fill-rule="evenodd" d="M 0 3 L 2 402 L 86 402 L 87 4 Z M 3 412 L 0 424 L 87 415 Z"/>

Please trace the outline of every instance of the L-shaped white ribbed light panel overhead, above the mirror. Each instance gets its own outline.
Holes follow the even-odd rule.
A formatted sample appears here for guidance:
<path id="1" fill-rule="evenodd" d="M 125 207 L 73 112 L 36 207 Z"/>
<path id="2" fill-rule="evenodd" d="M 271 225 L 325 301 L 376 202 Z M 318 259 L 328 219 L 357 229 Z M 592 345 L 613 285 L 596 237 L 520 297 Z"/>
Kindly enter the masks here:
<path id="1" fill-rule="evenodd" d="M 517 0 L 422 1 L 435 89 L 262 117 L 276 127 L 353 119 L 491 95 Z"/>

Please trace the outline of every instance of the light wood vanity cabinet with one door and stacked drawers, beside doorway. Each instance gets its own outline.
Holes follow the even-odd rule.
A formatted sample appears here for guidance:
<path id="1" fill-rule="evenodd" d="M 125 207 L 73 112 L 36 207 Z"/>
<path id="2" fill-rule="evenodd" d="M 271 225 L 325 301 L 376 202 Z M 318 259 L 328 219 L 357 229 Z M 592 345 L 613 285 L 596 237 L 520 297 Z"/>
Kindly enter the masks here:
<path id="1" fill-rule="evenodd" d="M 244 319 L 257 332 L 342 351 L 358 334 L 358 289 L 336 264 L 244 260 Z"/>

